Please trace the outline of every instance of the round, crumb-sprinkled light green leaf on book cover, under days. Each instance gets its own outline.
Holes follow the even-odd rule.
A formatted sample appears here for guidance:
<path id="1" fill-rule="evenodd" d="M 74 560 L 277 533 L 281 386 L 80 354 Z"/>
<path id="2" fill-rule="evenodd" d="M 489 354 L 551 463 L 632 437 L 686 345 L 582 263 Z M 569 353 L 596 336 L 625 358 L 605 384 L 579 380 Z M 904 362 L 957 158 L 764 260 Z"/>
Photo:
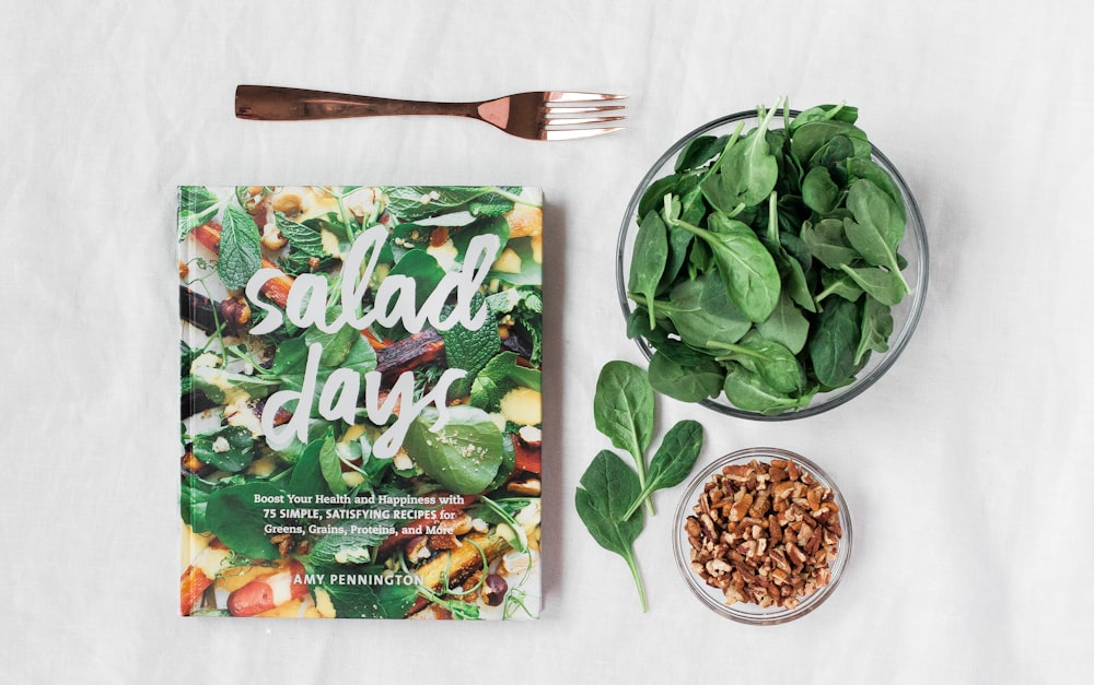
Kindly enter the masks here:
<path id="1" fill-rule="evenodd" d="M 498 475 L 504 436 L 485 411 L 447 408 L 449 421 L 433 429 L 439 413 L 427 406 L 410 424 L 403 447 L 427 475 L 457 495 L 476 495 Z"/>

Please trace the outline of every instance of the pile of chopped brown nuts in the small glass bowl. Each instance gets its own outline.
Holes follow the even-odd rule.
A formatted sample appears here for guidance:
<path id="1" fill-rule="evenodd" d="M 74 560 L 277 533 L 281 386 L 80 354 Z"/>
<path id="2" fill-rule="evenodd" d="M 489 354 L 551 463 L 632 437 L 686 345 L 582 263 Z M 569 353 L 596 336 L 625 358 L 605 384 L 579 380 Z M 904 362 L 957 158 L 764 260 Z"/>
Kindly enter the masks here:
<path id="1" fill-rule="evenodd" d="M 715 473 L 684 522 L 691 571 L 726 604 L 793 609 L 831 581 L 843 535 L 831 488 L 790 460 Z"/>

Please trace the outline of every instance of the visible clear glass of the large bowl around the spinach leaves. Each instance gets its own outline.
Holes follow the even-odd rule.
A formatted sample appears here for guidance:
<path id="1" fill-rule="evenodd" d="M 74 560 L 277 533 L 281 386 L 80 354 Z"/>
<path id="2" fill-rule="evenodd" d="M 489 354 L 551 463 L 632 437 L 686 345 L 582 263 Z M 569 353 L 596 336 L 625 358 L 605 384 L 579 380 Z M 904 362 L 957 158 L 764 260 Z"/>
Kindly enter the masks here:
<path id="1" fill-rule="evenodd" d="M 791 109 L 788 114 L 794 117 L 800 113 Z M 616 287 L 625 320 L 630 317 L 632 311 L 631 303 L 627 297 L 627 279 L 630 272 L 631 248 L 635 236 L 638 233 L 637 214 L 642 194 L 653 181 L 674 172 L 677 155 L 691 140 L 700 135 L 718 137 L 731 134 L 742 121 L 744 122 L 743 132 L 747 132 L 755 128 L 758 118 L 755 111 L 741 111 L 700 126 L 666 150 L 645 174 L 641 182 L 639 182 L 638 188 L 630 198 L 630 202 L 627 204 L 626 212 L 624 212 L 622 223 L 619 227 L 619 237 L 616 244 Z M 779 111 L 772 118 L 770 128 L 779 129 L 782 126 L 783 117 L 782 113 Z M 787 421 L 812 416 L 835 409 L 873 386 L 893 366 L 907 346 L 912 332 L 916 330 L 916 324 L 919 322 L 927 298 L 929 270 L 927 231 L 923 225 L 923 217 L 919 212 L 919 205 L 916 203 L 916 199 L 912 197 L 907 184 L 905 184 L 904 178 L 901 178 L 899 172 L 893 166 L 893 163 L 882 154 L 876 145 L 871 146 L 873 150 L 873 162 L 889 174 L 904 196 L 907 213 L 907 227 L 904 240 L 900 244 L 900 255 L 908 262 L 901 273 L 911 290 L 911 294 L 906 295 L 899 305 L 892 308 L 893 334 L 888 340 L 888 351 L 885 353 L 871 353 L 869 362 L 856 374 L 853 381 L 840 388 L 818 392 L 810 404 L 799 409 L 787 410 L 780 413 L 746 411 L 730 404 L 724 393 L 712 399 L 701 400 L 698 402 L 699 404 L 722 414 L 757 421 Z M 643 338 L 636 338 L 635 341 L 642 355 L 649 361 L 653 356 L 653 350 L 649 342 Z"/>

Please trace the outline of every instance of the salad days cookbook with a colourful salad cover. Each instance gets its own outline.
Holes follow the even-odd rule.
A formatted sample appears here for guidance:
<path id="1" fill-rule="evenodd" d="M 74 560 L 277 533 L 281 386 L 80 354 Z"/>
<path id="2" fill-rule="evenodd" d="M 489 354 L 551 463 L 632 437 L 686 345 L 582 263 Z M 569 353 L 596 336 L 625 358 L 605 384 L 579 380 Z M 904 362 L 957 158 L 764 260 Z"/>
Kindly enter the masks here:
<path id="1" fill-rule="evenodd" d="M 542 206 L 179 187 L 183 615 L 538 617 Z"/>

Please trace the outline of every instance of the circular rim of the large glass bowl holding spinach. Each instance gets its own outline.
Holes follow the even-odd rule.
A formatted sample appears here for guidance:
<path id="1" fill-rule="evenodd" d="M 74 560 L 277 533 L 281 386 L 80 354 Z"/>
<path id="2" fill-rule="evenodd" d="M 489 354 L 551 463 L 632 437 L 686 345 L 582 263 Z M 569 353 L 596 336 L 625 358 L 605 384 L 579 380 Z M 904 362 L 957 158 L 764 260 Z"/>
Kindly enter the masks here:
<path id="1" fill-rule="evenodd" d="M 779 119 L 780 115 L 796 117 L 799 114 L 801 114 L 801 110 L 798 109 L 778 108 L 776 109 L 775 119 Z M 665 165 L 670 161 L 674 160 L 684 146 L 687 145 L 693 139 L 721 126 L 725 126 L 726 123 L 755 118 L 757 118 L 755 109 L 743 110 L 719 117 L 693 129 L 689 133 L 673 143 L 673 145 L 657 158 L 653 166 L 650 167 L 650 169 L 642 177 L 642 180 L 639 181 L 638 187 L 630 197 L 630 201 L 627 203 L 627 210 L 624 212 L 622 223 L 619 226 L 619 234 L 616 239 L 616 294 L 619 298 L 619 306 L 622 309 L 625 320 L 631 315 L 630 300 L 627 297 L 626 276 L 624 274 L 624 261 L 627 257 L 627 237 L 631 231 L 635 214 L 638 211 L 638 203 L 645 193 L 645 189 L 649 188 L 650 184 L 653 182 L 656 177 L 663 174 Z M 868 388 L 871 388 L 875 382 L 877 382 L 877 380 L 884 376 L 889 368 L 892 368 L 897 358 L 899 358 L 900 354 L 904 352 L 905 347 L 908 346 L 908 343 L 911 341 L 912 333 L 915 333 L 916 328 L 919 326 L 919 320 L 927 303 L 927 288 L 930 276 L 930 250 L 927 244 L 927 224 L 923 223 L 923 216 L 920 213 L 919 203 L 916 201 L 915 196 L 911 193 L 911 189 L 904 180 L 900 172 L 889 161 L 889 158 L 873 144 L 873 142 L 870 143 L 870 146 L 872 150 L 872 156 L 881 161 L 882 166 L 893 176 L 893 180 L 896 181 L 897 187 L 904 194 L 907 212 L 907 229 L 905 233 L 905 239 L 908 239 L 910 235 L 915 240 L 916 248 L 920 255 L 916 269 L 916 288 L 911 294 L 908 318 L 905 321 L 899 335 L 889 341 L 891 344 L 888 351 L 884 353 L 877 365 L 871 368 L 865 376 L 856 379 L 856 381 L 853 381 L 850 386 L 841 388 L 840 390 L 842 390 L 842 392 L 839 394 L 828 398 L 824 398 L 823 394 L 818 394 L 817 399 L 815 399 L 816 401 L 811 402 L 806 406 L 780 412 L 778 414 L 761 414 L 758 412 L 749 412 L 737 409 L 736 406 L 730 404 L 729 401 L 725 401 L 724 403 L 715 402 L 714 399 L 700 400 L 699 402 L 695 402 L 695 404 L 700 404 L 707 409 L 728 416 L 749 418 L 753 421 L 794 421 L 796 418 L 814 416 L 816 414 L 836 409 L 837 406 L 841 406 L 842 404 L 846 404 L 862 394 Z M 642 356 L 645 357 L 645 361 L 649 363 L 649 361 L 653 357 L 653 350 L 651 350 L 644 338 L 635 338 L 633 340 Z M 719 394 L 719 397 L 722 395 Z"/>

